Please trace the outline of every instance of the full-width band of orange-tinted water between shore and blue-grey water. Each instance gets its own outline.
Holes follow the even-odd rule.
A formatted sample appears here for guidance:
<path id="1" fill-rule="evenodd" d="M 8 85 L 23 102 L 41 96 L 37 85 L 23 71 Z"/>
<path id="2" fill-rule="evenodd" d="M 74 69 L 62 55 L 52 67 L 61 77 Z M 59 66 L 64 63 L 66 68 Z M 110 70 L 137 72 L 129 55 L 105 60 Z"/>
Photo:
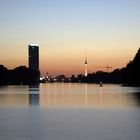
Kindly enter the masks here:
<path id="1" fill-rule="evenodd" d="M 140 88 L 120 85 L 43 84 L 0 88 L 0 106 L 40 107 L 136 107 L 140 106 Z"/>

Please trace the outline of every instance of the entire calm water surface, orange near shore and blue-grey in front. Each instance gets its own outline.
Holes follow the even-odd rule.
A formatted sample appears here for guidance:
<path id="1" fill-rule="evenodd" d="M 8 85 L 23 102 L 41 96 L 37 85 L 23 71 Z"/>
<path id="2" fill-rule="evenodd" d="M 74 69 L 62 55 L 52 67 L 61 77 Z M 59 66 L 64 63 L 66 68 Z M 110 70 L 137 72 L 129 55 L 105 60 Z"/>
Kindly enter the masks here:
<path id="1" fill-rule="evenodd" d="M 140 88 L 0 87 L 0 140 L 139 140 Z"/>

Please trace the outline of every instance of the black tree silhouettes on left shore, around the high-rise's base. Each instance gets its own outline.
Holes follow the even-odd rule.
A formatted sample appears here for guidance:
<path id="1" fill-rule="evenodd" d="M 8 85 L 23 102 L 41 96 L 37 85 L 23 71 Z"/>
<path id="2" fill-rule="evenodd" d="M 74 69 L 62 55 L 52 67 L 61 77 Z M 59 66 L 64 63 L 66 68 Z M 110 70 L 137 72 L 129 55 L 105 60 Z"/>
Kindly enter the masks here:
<path id="1" fill-rule="evenodd" d="M 37 84 L 39 82 L 39 72 L 25 66 L 8 70 L 0 65 L 0 85 L 7 84 Z"/>

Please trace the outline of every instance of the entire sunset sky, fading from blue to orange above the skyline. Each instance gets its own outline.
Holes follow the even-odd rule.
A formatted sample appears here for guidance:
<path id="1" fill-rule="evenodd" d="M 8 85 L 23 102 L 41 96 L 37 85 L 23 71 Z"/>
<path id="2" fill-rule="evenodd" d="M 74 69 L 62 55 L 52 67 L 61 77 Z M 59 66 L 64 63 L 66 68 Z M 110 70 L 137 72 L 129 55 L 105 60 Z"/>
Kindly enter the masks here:
<path id="1" fill-rule="evenodd" d="M 124 67 L 140 46 L 140 0 L 0 0 L 0 64 L 28 66 L 40 46 L 40 70 L 57 74 Z"/>

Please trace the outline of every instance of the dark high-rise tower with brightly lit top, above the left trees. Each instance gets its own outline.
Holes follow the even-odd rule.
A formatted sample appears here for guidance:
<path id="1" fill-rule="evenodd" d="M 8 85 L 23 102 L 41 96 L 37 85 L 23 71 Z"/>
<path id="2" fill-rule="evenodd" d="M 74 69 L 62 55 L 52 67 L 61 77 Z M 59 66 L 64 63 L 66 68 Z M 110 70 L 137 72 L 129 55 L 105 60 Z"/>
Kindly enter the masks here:
<path id="1" fill-rule="evenodd" d="M 39 71 L 39 45 L 31 44 L 28 46 L 29 68 Z"/>

